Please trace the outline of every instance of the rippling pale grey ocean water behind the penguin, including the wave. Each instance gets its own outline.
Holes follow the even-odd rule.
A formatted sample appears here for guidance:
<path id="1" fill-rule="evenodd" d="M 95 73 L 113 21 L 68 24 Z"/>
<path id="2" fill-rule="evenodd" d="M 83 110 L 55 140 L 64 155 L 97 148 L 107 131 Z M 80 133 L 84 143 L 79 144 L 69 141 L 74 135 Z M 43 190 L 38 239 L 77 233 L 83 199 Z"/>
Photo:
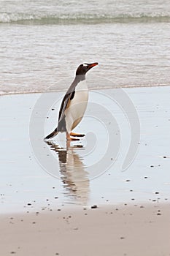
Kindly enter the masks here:
<path id="1" fill-rule="evenodd" d="M 66 90 L 91 61 L 90 89 L 169 85 L 168 0 L 0 0 L 0 33 L 1 94 Z"/>

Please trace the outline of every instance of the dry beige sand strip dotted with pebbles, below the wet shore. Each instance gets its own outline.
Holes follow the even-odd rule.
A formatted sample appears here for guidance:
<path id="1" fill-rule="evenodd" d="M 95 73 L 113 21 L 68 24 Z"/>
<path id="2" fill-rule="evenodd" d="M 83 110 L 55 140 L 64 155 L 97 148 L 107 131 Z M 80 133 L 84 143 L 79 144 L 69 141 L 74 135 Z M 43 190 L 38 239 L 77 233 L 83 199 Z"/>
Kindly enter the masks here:
<path id="1" fill-rule="evenodd" d="M 1 255 L 170 255 L 170 205 L 1 216 Z"/>

